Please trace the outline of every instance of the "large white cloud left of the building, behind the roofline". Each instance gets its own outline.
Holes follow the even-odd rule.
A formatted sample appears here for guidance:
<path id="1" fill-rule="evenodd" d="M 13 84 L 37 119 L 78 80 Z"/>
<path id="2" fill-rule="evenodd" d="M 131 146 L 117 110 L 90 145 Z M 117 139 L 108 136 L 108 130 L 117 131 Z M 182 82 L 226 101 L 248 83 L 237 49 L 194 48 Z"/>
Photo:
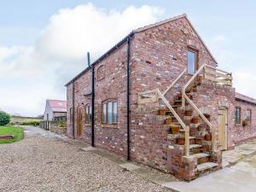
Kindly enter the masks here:
<path id="1" fill-rule="evenodd" d="M 0 108 L 9 113 L 44 113 L 47 98 L 65 99 L 64 84 L 131 30 L 159 20 L 163 10 L 144 5 L 121 11 L 92 3 L 60 9 L 30 46 L 0 47 Z"/>

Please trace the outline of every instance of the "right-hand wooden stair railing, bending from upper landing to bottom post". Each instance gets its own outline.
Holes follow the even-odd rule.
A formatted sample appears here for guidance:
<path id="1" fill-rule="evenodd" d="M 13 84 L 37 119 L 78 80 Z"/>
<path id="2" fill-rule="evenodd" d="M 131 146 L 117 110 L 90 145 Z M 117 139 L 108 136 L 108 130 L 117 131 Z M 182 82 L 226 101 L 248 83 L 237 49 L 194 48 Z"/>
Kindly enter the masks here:
<path id="1" fill-rule="evenodd" d="M 192 102 L 190 99 L 189 99 L 189 96 L 186 95 L 186 89 L 188 88 L 189 84 L 191 84 L 192 82 L 195 81 L 195 78 L 201 73 L 201 71 L 207 67 L 206 64 L 203 64 L 198 70 L 197 72 L 192 76 L 191 79 L 189 79 L 188 83 L 185 84 L 183 86 L 183 89 L 182 89 L 182 107 L 184 108 L 185 107 L 185 102 L 189 102 L 189 104 L 192 106 L 192 108 L 195 109 L 195 111 L 201 116 L 201 119 L 203 119 L 207 125 L 210 127 L 210 130 L 212 132 L 212 151 L 215 151 L 215 146 L 216 146 L 216 130 L 214 129 L 213 125 L 211 124 L 211 122 L 206 118 L 206 116 L 201 113 L 201 110 L 199 108 L 197 108 L 195 106 L 195 103 Z"/>

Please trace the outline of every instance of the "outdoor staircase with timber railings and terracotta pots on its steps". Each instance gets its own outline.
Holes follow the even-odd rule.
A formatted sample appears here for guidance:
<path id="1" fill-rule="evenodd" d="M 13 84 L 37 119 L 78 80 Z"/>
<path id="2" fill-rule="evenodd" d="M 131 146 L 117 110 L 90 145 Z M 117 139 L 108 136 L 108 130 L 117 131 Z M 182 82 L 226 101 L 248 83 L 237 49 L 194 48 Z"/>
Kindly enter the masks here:
<path id="1" fill-rule="evenodd" d="M 198 87 L 201 85 L 202 79 L 210 80 L 214 84 L 230 86 L 232 85 L 232 74 L 204 64 L 182 87 L 181 92 L 174 97 L 174 102 L 168 101 L 166 93 L 171 90 L 178 79 L 186 74 L 186 71 L 187 69 L 184 69 L 163 92 L 155 89 L 140 93 L 138 103 L 162 102 L 165 109 L 160 109 L 159 113 L 164 116 L 162 119 L 166 119 L 165 126 L 169 127 L 168 134 L 175 138 L 175 146 L 183 146 L 184 158 L 195 160 L 196 167 L 192 169 L 199 177 L 220 166 L 216 163 L 216 156 L 214 158 L 214 154 L 218 154 L 218 150 L 215 138 L 216 127 L 213 127 L 210 122 L 211 114 L 201 112 L 193 100 L 199 96 Z"/>

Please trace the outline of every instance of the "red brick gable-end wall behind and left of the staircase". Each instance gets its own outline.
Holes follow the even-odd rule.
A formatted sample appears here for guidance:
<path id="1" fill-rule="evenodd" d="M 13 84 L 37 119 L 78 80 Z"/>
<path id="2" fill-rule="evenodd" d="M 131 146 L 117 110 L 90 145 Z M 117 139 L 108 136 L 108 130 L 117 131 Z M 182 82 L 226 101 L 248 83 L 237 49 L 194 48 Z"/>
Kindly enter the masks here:
<path id="1" fill-rule="evenodd" d="M 135 68 L 131 74 L 131 155 L 135 160 L 168 172 L 179 172 L 183 152 L 168 148 L 172 140 L 167 138 L 164 121 L 157 118 L 157 111 L 137 110 L 137 93 L 156 88 L 163 91 L 172 84 L 187 67 L 188 46 L 198 49 L 200 66 L 204 63 L 216 66 L 184 18 L 139 32 L 132 41 Z M 170 101 L 187 80 L 183 77 L 176 85 L 177 89 L 168 93 Z M 172 155 L 174 152 L 180 155 Z"/>

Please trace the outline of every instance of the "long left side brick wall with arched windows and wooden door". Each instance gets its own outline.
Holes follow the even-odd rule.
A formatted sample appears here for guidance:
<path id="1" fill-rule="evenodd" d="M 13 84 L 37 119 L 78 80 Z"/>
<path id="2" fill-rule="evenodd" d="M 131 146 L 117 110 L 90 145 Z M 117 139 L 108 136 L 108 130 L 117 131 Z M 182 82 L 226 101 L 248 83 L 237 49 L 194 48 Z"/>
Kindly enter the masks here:
<path id="1" fill-rule="evenodd" d="M 106 148 L 115 153 L 126 155 L 126 49 L 123 44 L 95 67 L 95 143 L 97 147 Z M 99 69 L 99 70 L 98 70 Z M 83 116 L 82 139 L 91 143 L 91 125 L 85 124 L 85 107 L 90 98 L 84 96 L 91 92 L 91 70 L 84 73 L 75 82 L 75 137 L 78 137 L 77 115 L 80 108 Z M 118 124 L 102 125 L 102 102 L 116 99 L 118 102 Z M 72 124 L 69 122 L 72 108 L 72 84 L 67 85 L 67 135 L 72 136 Z M 84 105 L 82 104 L 84 103 Z"/>

